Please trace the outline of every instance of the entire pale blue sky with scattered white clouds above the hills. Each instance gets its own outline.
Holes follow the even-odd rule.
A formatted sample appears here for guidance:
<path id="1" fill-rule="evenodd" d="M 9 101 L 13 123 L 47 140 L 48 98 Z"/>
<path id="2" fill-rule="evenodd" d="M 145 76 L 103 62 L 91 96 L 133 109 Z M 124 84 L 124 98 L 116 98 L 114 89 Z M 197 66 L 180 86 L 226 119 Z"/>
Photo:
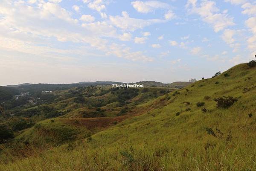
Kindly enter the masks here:
<path id="1" fill-rule="evenodd" d="M 253 0 L 0 0 L 0 85 L 188 81 L 254 55 Z"/>

